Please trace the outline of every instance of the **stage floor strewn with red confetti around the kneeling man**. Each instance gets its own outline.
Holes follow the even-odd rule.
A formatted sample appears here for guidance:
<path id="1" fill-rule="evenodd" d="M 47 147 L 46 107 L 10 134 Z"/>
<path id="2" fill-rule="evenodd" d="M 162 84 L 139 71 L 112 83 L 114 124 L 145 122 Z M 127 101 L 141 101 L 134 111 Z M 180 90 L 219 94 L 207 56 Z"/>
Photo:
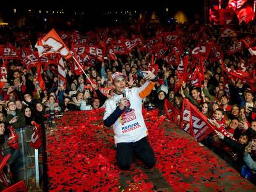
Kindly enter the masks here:
<path id="1" fill-rule="evenodd" d="M 48 128 L 50 191 L 256 191 L 256 187 L 165 116 L 144 112 L 156 166 L 134 158 L 129 171 L 116 165 L 113 132 L 102 110 L 67 112 Z"/>

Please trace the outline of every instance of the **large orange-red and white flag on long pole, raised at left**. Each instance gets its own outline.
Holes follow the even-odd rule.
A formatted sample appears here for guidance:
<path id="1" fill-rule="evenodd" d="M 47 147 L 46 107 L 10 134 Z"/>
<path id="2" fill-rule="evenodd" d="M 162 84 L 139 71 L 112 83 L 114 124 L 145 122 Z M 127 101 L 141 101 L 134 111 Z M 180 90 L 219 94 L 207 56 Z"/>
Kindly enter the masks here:
<path id="1" fill-rule="evenodd" d="M 51 48 L 47 52 L 58 52 L 65 59 L 69 59 L 70 57 L 72 57 L 71 52 L 69 51 L 69 49 L 67 49 L 67 46 L 64 44 L 64 42 L 61 40 L 58 33 L 56 33 L 54 29 L 49 31 L 49 33 L 42 39 L 42 42 L 43 41 Z M 45 51 L 45 49 L 41 50 Z M 44 52 L 40 52 L 39 55 L 43 53 Z"/>

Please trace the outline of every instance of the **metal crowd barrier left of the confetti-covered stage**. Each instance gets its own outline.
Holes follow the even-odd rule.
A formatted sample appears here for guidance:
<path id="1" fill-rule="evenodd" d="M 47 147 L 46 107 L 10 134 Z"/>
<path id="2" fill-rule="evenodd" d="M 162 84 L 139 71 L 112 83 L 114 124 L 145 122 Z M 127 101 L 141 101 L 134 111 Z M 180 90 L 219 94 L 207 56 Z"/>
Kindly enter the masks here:
<path id="1" fill-rule="evenodd" d="M 43 174 L 40 157 L 42 150 L 41 147 L 35 149 L 30 146 L 33 127 L 16 128 L 15 131 L 19 135 L 19 149 L 11 148 L 7 142 L 2 145 L 4 156 L 11 154 L 7 163 L 12 172 L 12 185 L 23 180 L 27 186 L 40 187 Z"/>

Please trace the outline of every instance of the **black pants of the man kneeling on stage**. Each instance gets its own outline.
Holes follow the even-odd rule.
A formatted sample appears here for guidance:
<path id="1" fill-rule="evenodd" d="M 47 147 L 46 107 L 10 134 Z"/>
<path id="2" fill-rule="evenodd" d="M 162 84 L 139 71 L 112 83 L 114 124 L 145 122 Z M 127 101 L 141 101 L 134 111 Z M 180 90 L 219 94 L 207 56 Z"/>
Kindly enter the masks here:
<path id="1" fill-rule="evenodd" d="M 129 170 L 132 164 L 132 152 L 150 169 L 156 164 L 155 153 L 146 137 L 135 143 L 117 143 L 116 161 L 122 170 Z"/>

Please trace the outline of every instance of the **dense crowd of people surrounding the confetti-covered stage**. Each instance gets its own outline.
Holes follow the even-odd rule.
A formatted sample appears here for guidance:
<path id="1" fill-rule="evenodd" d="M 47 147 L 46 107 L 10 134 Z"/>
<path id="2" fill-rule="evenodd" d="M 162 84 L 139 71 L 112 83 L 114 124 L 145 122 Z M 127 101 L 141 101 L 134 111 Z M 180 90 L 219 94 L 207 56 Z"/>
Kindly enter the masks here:
<path id="1" fill-rule="evenodd" d="M 111 38 L 114 39 L 114 36 L 116 36 L 117 40 L 117 37 L 124 36 L 124 33 L 127 33 L 127 36 L 132 36 L 135 33 L 134 27 L 130 27 L 127 30 L 122 27 L 118 28 L 120 31 L 118 34 L 111 34 L 111 30 L 108 30 L 108 33 L 112 35 Z M 114 31 L 113 28 L 112 31 Z M 177 58 L 177 52 L 171 57 L 174 58 L 171 61 L 168 57 L 169 54 L 159 56 L 150 51 L 150 49 L 140 49 L 137 46 L 127 54 L 116 54 L 116 61 L 107 57 L 104 61 L 96 60 L 90 62 L 90 65 L 82 63 L 88 77 L 93 81 L 92 84 L 83 73 L 77 75 L 72 69 L 72 62 L 65 60 L 66 85 L 60 83 L 57 65 L 49 65 L 45 70 L 39 70 L 42 73 L 45 88 L 39 85 L 36 66 L 28 69 L 19 59 L 6 60 L 7 63 L 2 65 L 7 68 L 7 82 L 0 91 L 0 125 L 5 127 L 2 128 L 0 126 L 1 143 L 7 141 L 9 135 L 7 127 L 10 125 L 14 129 L 32 125 L 33 121 L 41 125 L 53 110 L 65 113 L 106 107 L 106 100 L 114 95 L 113 79 L 111 78 L 113 73 L 121 72 L 126 74 L 129 88 L 141 87 L 145 83 L 142 71 L 156 70 L 152 65 L 157 65 L 158 72 L 156 75 L 158 81 L 151 93 L 142 99 L 143 107 L 147 110 L 156 107 L 159 109 L 159 115 L 163 115 L 164 99 L 168 99 L 179 111 L 182 111 L 183 99 L 189 99 L 203 115 L 211 119 L 211 123 L 214 126 L 224 127 L 236 139 L 232 140 L 217 132 L 207 136 L 202 143 L 223 157 L 240 173 L 244 173 L 245 169 L 249 170 L 248 172 L 252 174 L 248 178 L 255 183 L 255 81 L 254 83 L 249 83 L 243 80 L 242 77 L 231 78 L 226 70 L 223 69 L 219 59 L 207 59 L 203 65 L 205 78 L 201 82 L 202 85 L 194 86 L 189 78 L 182 80 L 179 76 L 180 63 L 177 63 L 177 61 L 182 62 L 182 59 L 188 55 L 188 65 L 193 65 L 192 62 L 195 62 L 195 60 L 192 59 L 192 50 L 198 44 L 213 41 L 220 46 L 223 52 L 223 58 L 221 59 L 223 59 L 226 67 L 231 70 L 239 70 L 244 66 L 244 72 L 247 72 L 250 78 L 255 80 L 255 61 L 249 51 L 244 48 L 234 54 L 228 54 L 226 50 L 235 41 L 248 35 L 252 35 L 251 39 L 254 40 L 256 25 L 253 22 L 248 25 L 240 25 L 236 28 L 236 31 L 239 32 L 237 36 L 225 38 L 221 37 L 221 29 L 219 27 L 200 25 L 198 23 L 194 25 L 177 24 L 174 27 L 151 23 L 141 31 L 145 42 L 146 40 L 150 42 L 150 39 L 155 37 L 158 39 L 163 31 L 176 31 L 179 34 L 179 43 L 182 43 L 182 50 L 179 50 L 179 58 Z M 4 33 L 0 36 L 1 44 L 12 44 L 17 50 L 20 50 L 22 46 L 30 47 L 30 44 L 21 44 L 21 42 L 27 43 L 27 40 L 17 41 L 15 36 L 17 31 L 16 33 L 9 32 L 4 30 Z M 199 32 L 201 34 L 198 34 Z M 28 33 L 30 33 L 30 36 L 35 35 L 32 31 Z M 136 32 L 137 34 L 138 32 Z M 98 38 L 99 36 L 100 34 L 98 34 Z M 30 43 L 35 42 L 35 39 L 30 41 Z M 151 46 L 154 43 L 151 43 Z M 70 44 L 67 44 L 67 46 L 69 47 Z M 166 47 L 171 54 L 170 50 L 173 47 Z M 155 59 L 152 58 L 153 56 L 155 56 Z M 190 72 L 192 70 L 194 71 L 194 69 L 190 68 Z M 109 88 L 108 94 L 103 94 L 100 91 L 101 88 Z"/>

